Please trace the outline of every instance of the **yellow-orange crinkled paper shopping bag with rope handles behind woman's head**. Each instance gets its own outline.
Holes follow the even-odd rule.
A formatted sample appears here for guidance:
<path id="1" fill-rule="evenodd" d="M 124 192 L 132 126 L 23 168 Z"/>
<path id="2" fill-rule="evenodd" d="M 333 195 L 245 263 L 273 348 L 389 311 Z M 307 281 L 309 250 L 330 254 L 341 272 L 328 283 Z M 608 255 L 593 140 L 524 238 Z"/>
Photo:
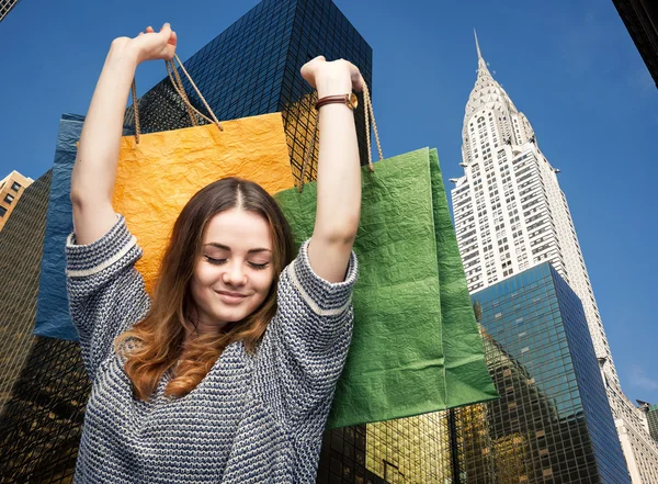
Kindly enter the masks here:
<path id="1" fill-rule="evenodd" d="M 172 67 L 168 65 L 172 83 L 193 110 Z M 175 218 L 203 187 L 225 177 L 254 181 L 271 194 L 294 185 L 281 113 L 219 124 L 207 103 L 206 109 L 213 124 L 146 135 L 139 135 L 135 109 L 137 134 L 121 140 L 113 206 L 144 250 L 136 268 L 149 293 Z"/>

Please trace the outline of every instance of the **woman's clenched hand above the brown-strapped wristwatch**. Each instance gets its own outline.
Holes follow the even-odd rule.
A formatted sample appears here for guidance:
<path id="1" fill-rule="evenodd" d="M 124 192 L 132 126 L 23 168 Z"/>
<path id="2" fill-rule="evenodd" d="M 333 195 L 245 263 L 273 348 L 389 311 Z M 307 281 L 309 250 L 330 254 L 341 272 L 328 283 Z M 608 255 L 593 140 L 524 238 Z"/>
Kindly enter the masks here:
<path id="1" fill-rule="evenodd" d="M 327 61 L 324 56 L 302 66 L 302 77 L 318 90 L 319 98 L 361 91 L 365 85 L 361 71 L 352 63 L 344 59 Z"/>

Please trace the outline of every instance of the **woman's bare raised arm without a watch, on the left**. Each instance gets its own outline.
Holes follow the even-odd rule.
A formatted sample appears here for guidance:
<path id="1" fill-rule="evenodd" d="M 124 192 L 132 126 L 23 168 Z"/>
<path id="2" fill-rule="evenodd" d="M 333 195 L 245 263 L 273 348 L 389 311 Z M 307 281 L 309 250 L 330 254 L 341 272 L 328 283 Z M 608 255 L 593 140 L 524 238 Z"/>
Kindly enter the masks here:
<path id="1" fill-rule="evenodd" d="M 91 244 L 116 223 L 112 192 L 125 106 L 135 77 L 144 60 L 171 59 L 177 36 L 169 24 L 159 33 L 151 27 L 135 38 L 112 42 L 82 126 L 71 176 L 73 226 L 79 245 Z"/>

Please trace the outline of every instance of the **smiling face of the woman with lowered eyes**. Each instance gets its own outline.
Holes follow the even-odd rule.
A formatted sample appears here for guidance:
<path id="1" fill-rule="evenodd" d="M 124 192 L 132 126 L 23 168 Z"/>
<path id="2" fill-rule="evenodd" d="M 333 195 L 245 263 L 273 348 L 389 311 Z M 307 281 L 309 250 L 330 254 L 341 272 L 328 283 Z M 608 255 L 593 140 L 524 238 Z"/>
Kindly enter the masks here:
<path id="1" fill-rule="evenodd" d="M 262 216 L 231 209 L 211 218 L 191 283 L 200 334 L 241 320 L 262 304 L 274 280 L 272 250 Z"/>

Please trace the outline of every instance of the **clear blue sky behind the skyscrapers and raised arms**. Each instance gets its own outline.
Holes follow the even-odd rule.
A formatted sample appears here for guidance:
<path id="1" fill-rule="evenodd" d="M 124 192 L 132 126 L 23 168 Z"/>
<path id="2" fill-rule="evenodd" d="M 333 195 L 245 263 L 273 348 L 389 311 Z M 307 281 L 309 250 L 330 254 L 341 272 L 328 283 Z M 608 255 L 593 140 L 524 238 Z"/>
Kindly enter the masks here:
<path id="1" fill-rule="evenodd" d="M 445 180 L 462 175 L 477 29 L 489 69 L 561 170 L 622 385 L 658 403 L 658 90 L 612 1 L 334 1 L 373 47 L 384 154 L 436 147 Z M 20 2 L 0 23 L 0 177 L 50 168 L 59 116 L 87 112 L 112 38 L 169 21 L 185 59 L 256 3 Z M 164 74 L 140 66 L 139 93 Z"/>

